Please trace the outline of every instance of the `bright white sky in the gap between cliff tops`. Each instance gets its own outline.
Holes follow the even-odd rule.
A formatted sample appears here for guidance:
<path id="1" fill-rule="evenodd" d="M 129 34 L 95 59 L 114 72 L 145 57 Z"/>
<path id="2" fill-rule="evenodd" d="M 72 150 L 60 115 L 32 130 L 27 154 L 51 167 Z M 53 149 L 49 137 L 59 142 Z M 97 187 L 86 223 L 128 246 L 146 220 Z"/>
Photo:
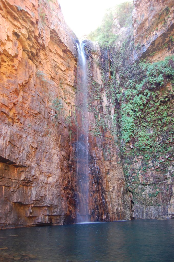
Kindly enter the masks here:
<path id="1" fill-rule="evenodd" d="M 106 9 L 126 0 L 58 0 L 58 2 L 66 23 L 77 37 L 81 37 L 101 24 Z"/>

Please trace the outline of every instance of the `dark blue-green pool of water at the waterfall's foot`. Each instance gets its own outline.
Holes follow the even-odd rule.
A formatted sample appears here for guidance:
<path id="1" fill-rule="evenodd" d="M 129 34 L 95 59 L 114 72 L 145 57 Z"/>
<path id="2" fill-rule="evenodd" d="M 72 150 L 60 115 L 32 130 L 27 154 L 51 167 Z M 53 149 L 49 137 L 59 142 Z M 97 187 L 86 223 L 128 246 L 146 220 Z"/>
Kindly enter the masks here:
<path id="1" fill-rule="evenodd" d="M 1 230 L 4 247 L 5 262 L 174 262 L 174 220 Z"/>

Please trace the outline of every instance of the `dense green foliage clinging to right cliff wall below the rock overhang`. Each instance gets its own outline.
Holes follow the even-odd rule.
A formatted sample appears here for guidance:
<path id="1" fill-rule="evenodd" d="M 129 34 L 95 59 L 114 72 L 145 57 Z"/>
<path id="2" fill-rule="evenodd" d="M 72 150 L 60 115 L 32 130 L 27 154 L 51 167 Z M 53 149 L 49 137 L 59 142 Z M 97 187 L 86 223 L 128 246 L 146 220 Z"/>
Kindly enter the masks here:
<path id="1" fill-rule="evenodd" d="M 135 63 L 121 80 L 125 87 L 120 107 L 120 132 L 124 142 L 134 144 L 134 154 L 148 160 L 155 168 L 171 165 L 174 142 L 174 57 L 156 63 Z"/>

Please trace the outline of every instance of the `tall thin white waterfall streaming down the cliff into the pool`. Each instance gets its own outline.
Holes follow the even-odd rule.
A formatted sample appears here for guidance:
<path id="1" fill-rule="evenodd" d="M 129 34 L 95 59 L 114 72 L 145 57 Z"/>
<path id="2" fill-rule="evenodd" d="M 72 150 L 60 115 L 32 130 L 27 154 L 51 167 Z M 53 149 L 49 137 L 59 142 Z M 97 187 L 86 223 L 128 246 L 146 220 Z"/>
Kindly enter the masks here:
<path id="1" fill-rule="evenodd" d="M 77 98 L 78 110 L 81 115 L 80 127 L 77 129 L 77 142 L 75 154 L 77 159 L 77 222 L 89 220 L 89 164 L 88 164 L 88 87 L 87 87 L 87 61 L 84 51 L 84 43 L 77 43 L 78 49 L 78 73 L 77 73 Z"/>

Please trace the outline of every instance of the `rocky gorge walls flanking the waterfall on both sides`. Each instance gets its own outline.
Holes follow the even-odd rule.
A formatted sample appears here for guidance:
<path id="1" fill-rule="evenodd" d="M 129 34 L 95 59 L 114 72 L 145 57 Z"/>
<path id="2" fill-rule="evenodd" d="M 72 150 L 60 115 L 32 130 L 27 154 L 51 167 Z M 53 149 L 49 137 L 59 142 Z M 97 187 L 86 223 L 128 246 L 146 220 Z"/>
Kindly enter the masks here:
<path id="1" fill-rule="evenodd" d="M 91 221 L 174 216 L 174 7 L 143 2 L 133 25 L 114 18 L 114 45 L 84 42 Z M 37 0 L 1 1 L 0 40 L 1 228 L 76 222 L 78 40 L 56 1 Z"/>

